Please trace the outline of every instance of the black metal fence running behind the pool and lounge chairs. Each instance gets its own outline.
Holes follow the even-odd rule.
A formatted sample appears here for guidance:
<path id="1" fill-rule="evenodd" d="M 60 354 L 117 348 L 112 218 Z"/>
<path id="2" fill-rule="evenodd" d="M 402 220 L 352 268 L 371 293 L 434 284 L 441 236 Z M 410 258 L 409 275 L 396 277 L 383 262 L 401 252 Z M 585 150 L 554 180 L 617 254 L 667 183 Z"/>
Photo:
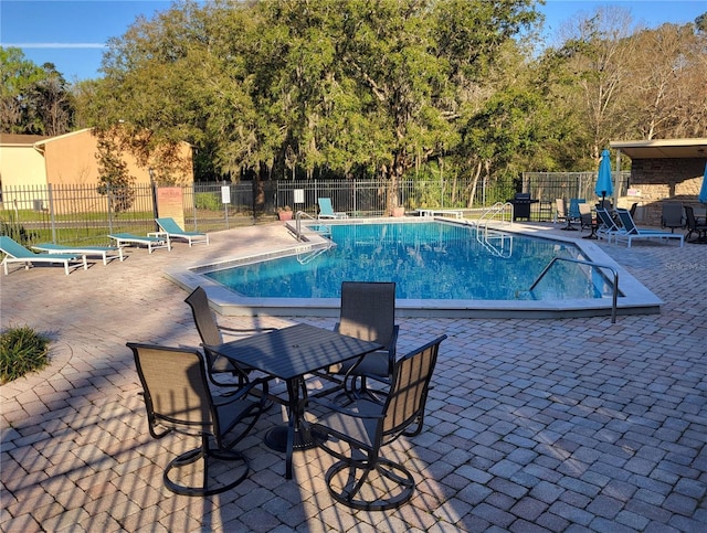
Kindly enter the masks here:
<path id="1" fill-rule="evenodd" d="M 625 193 L 627 175 L 614 175 L 614 195 Z M 474 211 L 481 213 L 516 192 L 529 192 L 542 201 L 534 207 L 531 218 L 549 220 L 548 204 L 553 205 L 556 198 L 595 198 L 594 180 L 593 172 L 526 172 L 517 183 L 404 180 L 394 203 L 408 213 L 421 207 L 455 209 L 467 210 L 473 216 Z M 0 191 L 0 234 L 24 244 L 84 245 L 107 244 L 110 233 L 146 234 L 156 230 L 158 193 L 150 184 L 113 190 L 77 184 L 6 186 Z M 284 206 L 315 216 L 319 198 L 330 198 L 336 211 L 350 216 L 380 216 L 386 213 L 388 193 L 388 183 L 382 180 L 199 182 L 182 188 L 184 230 L 213 232 L 271 222 Z"/>

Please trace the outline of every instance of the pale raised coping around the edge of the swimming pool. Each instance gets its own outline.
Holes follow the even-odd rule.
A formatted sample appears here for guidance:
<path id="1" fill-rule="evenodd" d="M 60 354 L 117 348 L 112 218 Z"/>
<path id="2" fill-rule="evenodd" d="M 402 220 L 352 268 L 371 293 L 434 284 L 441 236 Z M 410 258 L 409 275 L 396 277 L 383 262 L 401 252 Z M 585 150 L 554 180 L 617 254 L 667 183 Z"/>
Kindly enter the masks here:
<path id="1" fill-rule="evenodd" d="M 447 224 L 469 225 L 473 221 L 450 220 L 449 217 L 434 217 Z M 430 217 L 420 221 L 420 217 L 402 218 L 348 218 L 345 221 L 326 221 L 331 224 L 367 224 L 371 222 L 430 222 Z M 622 296 L 619 297 L 616 315 L 652 315 L 659 313 L 663 301 L 652 291 L 636 280 L 621 265 L 605 254 L 595 243 L 585 238 L 572 238 L 563 235 L 544 235 L 544 230 L 523 223 L 489 224 L 489 227 L 504 232 L 521 234 L 550 241 L 567 242 L 580 248 L 582 254 L 592 262 L 613 268 L 619 275 L 619 288 Z M 284 232 L 293 233 L 295 227 L 286 224 Z M 293 235 L 293 239 L 295 236 Z M 200 270 L 212 268 L 214 265 L 229 266 L 236 264 L 263 260 L 266 258 L 282 257 L 285 255 L 310 254 L 318 249 L 328 248 L 331 243 L 321 235 L 312 231 L 302 232 L 302 241 L 294 241 L 292 246 L 279 246 L 272 250 L 257 254 L 241 254 L 224 257 L 220 262 L 205 264 L 183 265 L 168 268 L 165 275 L 184 290 L 191 291 L 201 286 L 209 297 L 211 307 L 223 316 L 272 316 L 272 317 L 338 317 L 340 309 L 339 298 L 251 298 L 233 292 L 217 281 L 202 276 Z M 528 319 L 558 319 L 577 317 L 611 316 L 612 299 L 598 298 L 568 299 L 568 300 L 436 300 L 436 299 L 398 299 L 395 313 L 399 317 L 429 317 L 429 318 L 528 318 Z"/>

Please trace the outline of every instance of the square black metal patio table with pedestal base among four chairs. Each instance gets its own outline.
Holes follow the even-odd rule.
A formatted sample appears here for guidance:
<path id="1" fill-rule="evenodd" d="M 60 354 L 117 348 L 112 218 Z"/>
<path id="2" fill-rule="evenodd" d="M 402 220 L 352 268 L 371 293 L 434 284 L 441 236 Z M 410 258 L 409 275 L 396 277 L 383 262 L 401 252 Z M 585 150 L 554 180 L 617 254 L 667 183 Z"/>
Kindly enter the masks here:
<path id="1" fill-rule="evenodd" d="M 303 392 L 303 396 L 306 395 L 304 375 L 349 359 L 362 358 L 383 347 L 336 331 L 296 324 L 208 348 L 239 365 L 260 370 L 287 384 L 286 401 L 277 396 L 271 397 L 287 406 L 288 424 L 286 427 L 278 426 L 268 431 L 265 444 L 286 452 L 285 478 L 292 479 L 293 451 L 312 446 L 309 436 L 299 424 L 303 416 L 303 413 L 299 413 L 299 392 Z"/>

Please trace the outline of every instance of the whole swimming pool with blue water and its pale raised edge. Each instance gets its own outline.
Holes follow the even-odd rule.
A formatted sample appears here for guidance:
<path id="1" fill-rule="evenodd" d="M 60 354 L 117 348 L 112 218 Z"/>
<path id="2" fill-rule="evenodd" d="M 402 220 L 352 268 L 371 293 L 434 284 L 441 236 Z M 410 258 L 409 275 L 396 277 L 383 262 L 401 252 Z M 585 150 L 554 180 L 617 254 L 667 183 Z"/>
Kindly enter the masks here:
<path id="1" fill-rule="evenodd" d="M 223 315 L 336 316 L 342 279 L 394 280 L 400 317 L 609 315 L 612 284 L 597 268 L 558 262 L 529 290 L 550 258 L 562 256 L 613 265 L 620 312 L 659 312 L 662 302 L 594 243 L 526 237 L 520 224 L 477 233 L 464 221 L 387 221 L 327 223 L 305 243 L 167 275 L 186 289 L 204 287 Z M 335 246 L 319 235 L 325 228 Z"/>

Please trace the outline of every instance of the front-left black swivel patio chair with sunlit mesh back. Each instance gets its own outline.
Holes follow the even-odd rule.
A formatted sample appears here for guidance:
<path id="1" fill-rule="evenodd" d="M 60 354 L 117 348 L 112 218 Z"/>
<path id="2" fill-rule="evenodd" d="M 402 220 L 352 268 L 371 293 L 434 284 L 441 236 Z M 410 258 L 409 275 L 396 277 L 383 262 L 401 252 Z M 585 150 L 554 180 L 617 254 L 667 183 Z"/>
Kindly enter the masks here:
<path id="1" fill-rule="evenodd" d="M 127 347 L 143 384 L 150 435 L 156 439 L 171 433 L 201 438 L 200 447 L 169 461 L 162 475 L 165 487 L 177 494 L 211 495 L 241 483 L 249 463 L 233 447 L 264 411 L 265 395 L 255 402 L 249 394 L 255 386 L 267 392 L 267 382 L 253 380 L 229 396 L 213 396 L 200 352 L 133 342 Z M 238 426 L 240 430 L 234 431 Z"/>

